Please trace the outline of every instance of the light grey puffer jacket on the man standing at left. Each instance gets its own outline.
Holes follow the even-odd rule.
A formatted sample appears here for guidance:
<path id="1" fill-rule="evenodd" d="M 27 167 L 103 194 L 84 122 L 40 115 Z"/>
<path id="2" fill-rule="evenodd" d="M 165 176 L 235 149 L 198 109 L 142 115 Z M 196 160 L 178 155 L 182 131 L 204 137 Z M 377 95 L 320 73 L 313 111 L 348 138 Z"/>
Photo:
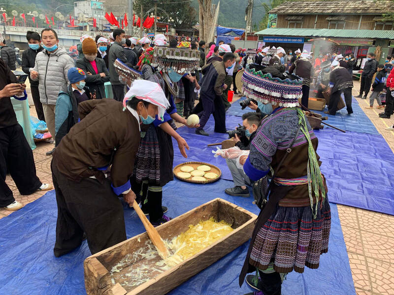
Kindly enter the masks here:
<path id="1" fill-rule="evenodd" d="M 67 92 L 67 72 L 69 68 L 75 66 L 74 60 L 67 54 L 63 46 L 48 55 L 44 49 L 39 52 L 35 58 L 34 70 L 38 72 L 38 78 L 32 79 L 39 81 L 38 90 L 40 92 L 40 101 L 44 104 L 54 104 L 58 99 L 60 91 Z"/>

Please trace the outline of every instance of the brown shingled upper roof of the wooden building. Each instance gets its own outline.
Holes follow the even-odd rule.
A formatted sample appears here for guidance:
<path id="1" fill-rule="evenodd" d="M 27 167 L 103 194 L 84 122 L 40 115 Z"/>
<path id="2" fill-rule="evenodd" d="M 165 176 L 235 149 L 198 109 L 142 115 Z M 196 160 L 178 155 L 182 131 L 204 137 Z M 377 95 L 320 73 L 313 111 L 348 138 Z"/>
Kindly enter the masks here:
<path id="1" fill-rule="evenodd" d="M 393 11 L 390 0 L 286 1 L 271 9 L 279 14 L 382 14 Z"/>

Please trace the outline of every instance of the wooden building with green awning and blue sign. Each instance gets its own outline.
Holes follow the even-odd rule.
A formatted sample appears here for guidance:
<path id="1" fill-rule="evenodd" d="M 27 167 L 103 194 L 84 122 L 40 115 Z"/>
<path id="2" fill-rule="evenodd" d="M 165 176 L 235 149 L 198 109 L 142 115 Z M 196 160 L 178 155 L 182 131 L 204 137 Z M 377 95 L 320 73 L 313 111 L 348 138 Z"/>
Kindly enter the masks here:
<path id="1" fill-rule="evenodd" d="M 315 56 L 353 53 L 362 59 L 376 51 L 383 62 L 394 47 L 394 22 L 384 18 L 390 11 L 390 0 L 285 2 L 269 11 L 268 28 L 257 34 L 267 45 L 306 49 Z"/>

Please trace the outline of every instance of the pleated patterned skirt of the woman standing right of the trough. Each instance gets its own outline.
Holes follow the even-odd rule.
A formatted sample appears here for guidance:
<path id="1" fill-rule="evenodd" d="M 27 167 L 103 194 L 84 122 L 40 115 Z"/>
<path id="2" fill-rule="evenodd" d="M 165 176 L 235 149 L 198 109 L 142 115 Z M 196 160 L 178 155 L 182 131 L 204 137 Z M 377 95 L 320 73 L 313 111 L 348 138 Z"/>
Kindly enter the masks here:
<path id="1" fill-rule="evenodd" d="M 277 272 L 302 273 L 318 268 L 320 255 L 328 252 L 331 211 L 328 200 L 319 202 L 316 219 L 306 207 L 277 207 L 259 230 L 249 263 L 261 270 L 273 262 Z"/>

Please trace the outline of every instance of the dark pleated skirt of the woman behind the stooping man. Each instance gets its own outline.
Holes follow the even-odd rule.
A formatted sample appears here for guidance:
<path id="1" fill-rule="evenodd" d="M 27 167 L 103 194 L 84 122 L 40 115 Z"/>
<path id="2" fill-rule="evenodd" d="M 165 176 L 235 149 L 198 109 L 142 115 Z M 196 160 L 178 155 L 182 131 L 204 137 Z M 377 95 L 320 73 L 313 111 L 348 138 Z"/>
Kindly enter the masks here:
<path id="1" fill-rule="evenodd" d="M 151 124 L 141 138 L 135 155 L 133 177 L 137 182 L 147 180 L 149 185 L 160 184 L 160 148 L 156 128 Z"/>

